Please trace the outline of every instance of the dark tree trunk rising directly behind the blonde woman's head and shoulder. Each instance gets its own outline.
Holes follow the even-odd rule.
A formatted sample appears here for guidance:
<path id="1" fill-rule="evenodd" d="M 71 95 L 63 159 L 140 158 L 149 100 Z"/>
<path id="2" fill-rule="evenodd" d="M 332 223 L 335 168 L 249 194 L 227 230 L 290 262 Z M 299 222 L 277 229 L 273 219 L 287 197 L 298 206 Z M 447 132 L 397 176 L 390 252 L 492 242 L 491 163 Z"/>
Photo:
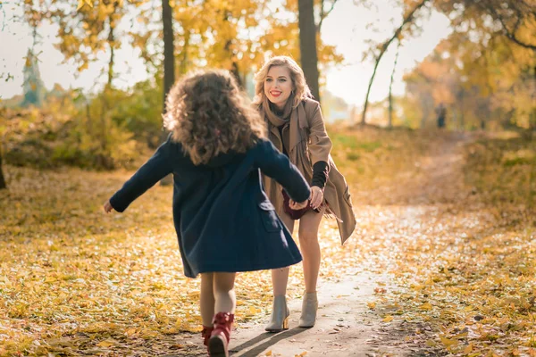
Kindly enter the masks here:
<path id="1" fill-rule="evenodd" d="M 316 25 L 313 0 L 298 0 L 299 53 L 301 66 L 314 99 L 320 101 L 318 84 L 318 55 L 316 54 Z"/>

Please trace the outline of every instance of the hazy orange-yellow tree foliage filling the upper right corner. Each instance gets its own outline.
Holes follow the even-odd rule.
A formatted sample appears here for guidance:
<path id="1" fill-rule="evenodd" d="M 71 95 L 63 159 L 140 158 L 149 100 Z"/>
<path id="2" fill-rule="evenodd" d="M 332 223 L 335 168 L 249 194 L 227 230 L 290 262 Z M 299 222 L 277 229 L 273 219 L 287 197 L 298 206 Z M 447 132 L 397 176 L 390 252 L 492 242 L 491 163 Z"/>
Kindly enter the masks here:
<path id="1" fill-rule="evenodd" d="M 442 103 L 448 109 L 447 120 L 457 128 L 510 123 L 535 127 L 536 52 L 498 36 L 490 29 L 490 19 L 482 16 L 482 8 L 477 6 L 465 8 L 463 18 L 456 21 L 460 21 L 456 22 L 460 29 L 406 75 L 405 100 L 413 104 L 413 108 L 411 104 L 407 106 L 406 117 L 431 122 L 435 119 L 433 109 Z M 471 26 L 462 27 L 464 21 Z M 516 36 L 536 43 L 536 18 L 523 17 L 516 28 Z"/>

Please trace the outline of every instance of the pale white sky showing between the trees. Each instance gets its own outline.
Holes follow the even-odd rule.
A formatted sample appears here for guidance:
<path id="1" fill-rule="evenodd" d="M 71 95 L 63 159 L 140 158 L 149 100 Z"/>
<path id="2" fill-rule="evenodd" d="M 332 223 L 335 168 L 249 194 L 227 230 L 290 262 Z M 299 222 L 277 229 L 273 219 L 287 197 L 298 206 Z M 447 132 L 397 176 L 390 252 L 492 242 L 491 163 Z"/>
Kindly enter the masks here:
<path id="1" fill-rule="evenodd" d="M 15 0 L 12 0 L 12 3 L 13 1 Z M 13 79 L 8 81 L 0 79 L 0 98 L 9 98 L 22 93 L 24 56 L 32 45 L 28 25 L 11 20 L 16 9 L 13 10 L 9 3 L 9 1 L 3 2 L 0 8 L 0 74 L 4 73 L 5 78 L 5 73 L 9 73 L 13 75 Z M 365 40 L 373 38 L 382 41 L 390 37 L 393 29 L 401 21 L 402 11 L 393 7 L 392 1 L 376 0 L 375 4 L 377 9 L 366 10 L 354 4 L 352 0 L 339 0 L 322 24 L 322 40 L 328 45 L 336 46 L 337 52 L 345 57 L 343 64 L 326 71 L 325 88 L 343 98 L 348 104 L 363 104 L 373 72 L 373 61 L 362 61 L 367 48 Z M 366 29 L 367 23 L 371 21 L 379 29 L 377 33 Z M 103 76 L 100 82 L 96 82 L 96 77 L 102 71 L 108 54 L 101 53 L 101 62 L 92 64 L 88 71 L 75 76 L 76 65 L 72 62 L 63 63 L 63 54 L 54 48 L 57 26 L 44 24 L 38 31 L 42 37 L 37 45 L 37 52 L 40 52 L 39 70 L 47 88 L 50 89 L 54 83 L 58 83 L 62 87 L 83 87 L 91 91 L 105 81 Z M 404 94 L 405 86 L 402 81 L 404 73 L 411 71 L 417 62 L 430 54 L 449 32 L 448 19 L 440 13 L 432 12 L 430 18 L 423 21 L 423 33 L 403 41 L 393 83 L 395 95 Z M 396 54 L 395 45 L 394 43 L 391 45 L 381 60 L 370 95 L 371 101 L 381 100 L 388 95 Z M 146 79 L 145 65 L 139 58 L 138 50 L 124 44 L 116 51 L 116 59 L 115 70 L 119 71 L 119 77 L 114 84 L 118 87 L 130 87 L 137 81 Z"/>

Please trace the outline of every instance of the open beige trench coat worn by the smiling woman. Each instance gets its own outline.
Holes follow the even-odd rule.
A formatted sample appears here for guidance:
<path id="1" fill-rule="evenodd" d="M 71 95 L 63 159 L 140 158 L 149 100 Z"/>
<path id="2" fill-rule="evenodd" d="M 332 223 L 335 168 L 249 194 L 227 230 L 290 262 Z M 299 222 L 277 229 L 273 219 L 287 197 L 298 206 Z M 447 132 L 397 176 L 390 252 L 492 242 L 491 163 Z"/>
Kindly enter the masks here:
<path id="1" fill-rule="evenodd" d="M 324 199 L 337 218 L 340 241 L 344 245 L 356 228 L 356 217 L 352 210 L 352 201 L 346 179 L 337 170 L 337 166 L 331 158 L 331 139 L 324 126 L 320 104 L 312 99 L 306 99 L 298 105 L 297 111 L 297 119 L 293 117 L 286 128 L 290 131 L 289 143 L 285 143 L 285 147 L 289 148 L 290 162 L 297 166 L 307 182 L 311 182 L 313 178 L 314 163 L 322 161 L 330 164 L 330 175 L 324 188 Z M 272 125 L 269 127 L 271 128 L 269 137 L 273 145 L 282 152 L 283 142 L 280 130 Z M 305 132 L 308 137 L 301 137 L 300 131 Z M 301 140 L 306 140 L 306 153 L 298 152 L 300 146 L 297 144 Z M 283 212 L 281 186 L 273 179 L 264 177 L 264 190 L 278 214 L 281 215 Z"/>

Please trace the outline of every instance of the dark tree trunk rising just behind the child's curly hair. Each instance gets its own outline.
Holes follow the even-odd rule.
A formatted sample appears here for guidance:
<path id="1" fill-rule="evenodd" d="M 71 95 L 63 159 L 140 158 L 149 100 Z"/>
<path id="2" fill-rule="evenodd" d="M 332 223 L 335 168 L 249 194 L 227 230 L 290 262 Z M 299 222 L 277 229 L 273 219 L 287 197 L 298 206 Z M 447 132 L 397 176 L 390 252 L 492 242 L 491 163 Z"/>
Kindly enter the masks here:
<path id="1" fill-rule="evenodd" d="M 163 108 L 166 112 L 165 98 L 175 82 L 175 48 L 173 46 L 173 12 L 170 0 L 162 0 L 162 23 L 163 23 Z M 167 132 L 162 130 L 161 141 L 167 138 Z M 163 186 L 172 184 L 172 175 L 168 175 L 160 180 Z"/>

